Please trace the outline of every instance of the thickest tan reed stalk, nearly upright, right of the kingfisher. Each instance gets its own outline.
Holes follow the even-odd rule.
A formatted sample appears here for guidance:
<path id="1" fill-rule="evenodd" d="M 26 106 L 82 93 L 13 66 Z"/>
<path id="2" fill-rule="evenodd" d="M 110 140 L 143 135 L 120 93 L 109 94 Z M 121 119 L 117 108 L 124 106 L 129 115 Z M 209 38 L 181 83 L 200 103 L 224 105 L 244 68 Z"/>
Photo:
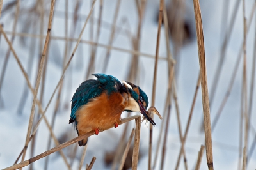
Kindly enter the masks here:
<path id="1" fill-rule="evenodd" d="M 196 35 L 198 45 L 198 57 L 200 65 L 200 77 L 201 77 L 201 89 L 202 89 L 202 104 L 204 112 L 204 131 L 205 131 L 205 148 L 206 159 L 209 170 L 213 170 L 213 158 L 212 158 L 212 135 L 211 135 L 211 118 L 210 118 L 210 106 L 207 87 L 207 74 L 205 64 L 205 51 L 204 51 L 204 35 L 202 27 L 202 17 L 200 12 L 200 4 L 198 0 L 193 0 L 196 20 Z"/>

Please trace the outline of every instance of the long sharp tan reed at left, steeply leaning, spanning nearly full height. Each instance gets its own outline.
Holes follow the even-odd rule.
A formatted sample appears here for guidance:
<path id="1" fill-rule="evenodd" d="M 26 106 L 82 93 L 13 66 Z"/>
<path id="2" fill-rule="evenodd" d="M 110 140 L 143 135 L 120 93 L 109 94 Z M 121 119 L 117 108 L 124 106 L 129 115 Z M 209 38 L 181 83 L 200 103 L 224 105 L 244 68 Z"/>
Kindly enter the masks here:
<path id="1" fill-rule="evenodd" d="M 33 94 L 34 98 L 33 98 L 33 103 L 32 103 L 32 108 L 31 108 L 31 114 L 30 114 L 30 118 L 29 118 L 29 125 L 28 125 L 28 132 L 27 132 L 27 137 L 26 137 L 25 148 L 24 148 L 22 160 L 21 160 L 22 162 L 24 161 L 25 156 L 26 156 L 26 150 L 28 148 L 29 137 L 30 137 L 31 130 L 32 130 L 32 125 L 33 125 L 33 120 L 34 120 L 34 115 L 35 115 L 35 107 L 36 107 L 36 97 L 37 97 L 38 88 L 39 88 L 39 84 L 40 84 L 41 77 L 42 77 L 42 70 L 44 68 L 45 54 L 46 54 L 46 50 L 47 50 L 48 43 L 49 43 L 50 33 L 51 33 L 52 17 L 53 17 L 53 12 L 54 12 L 54 3 L 55 3 L 55 0 L 52 0 L 51 1 L 51 11 L 50 11 L 50 15 L 49 15 L 49 22 L 48 22 L 48 30 L 47 30 L 47 35 L 45 38 L 44 50 L 42 53 L 42 57 L 41 57 L 41 61 L 40 61 L 40 68 L 39 68 L 38 75 L 36 78 L 35 93 Z"/>

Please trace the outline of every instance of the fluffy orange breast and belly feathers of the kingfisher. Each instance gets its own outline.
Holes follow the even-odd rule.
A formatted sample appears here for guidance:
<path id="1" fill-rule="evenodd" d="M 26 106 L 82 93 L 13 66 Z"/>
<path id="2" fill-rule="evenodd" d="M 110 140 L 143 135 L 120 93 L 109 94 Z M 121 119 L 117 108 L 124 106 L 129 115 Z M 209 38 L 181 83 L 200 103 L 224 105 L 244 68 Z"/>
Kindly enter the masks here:
<path id="1" fill-rule="evenodd" d="M 77 130 L 83 135 L 91 130 L 106 130 L 115 123 L 120 124 L 120 116 L 128 101 L 120 93 L 102 93 L 76 111 Z"/>

